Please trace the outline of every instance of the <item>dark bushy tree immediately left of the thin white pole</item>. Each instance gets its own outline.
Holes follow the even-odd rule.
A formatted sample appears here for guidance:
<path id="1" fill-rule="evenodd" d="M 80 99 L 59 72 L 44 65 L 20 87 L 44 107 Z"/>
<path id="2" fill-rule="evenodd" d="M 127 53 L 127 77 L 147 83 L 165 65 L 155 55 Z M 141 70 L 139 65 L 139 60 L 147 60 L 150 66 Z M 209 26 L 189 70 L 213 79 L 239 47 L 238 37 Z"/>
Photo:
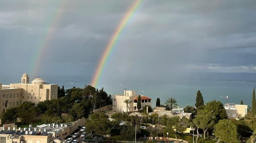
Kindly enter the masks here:
<path id="1" fill-rule="evenodd" d="M 124 125 L 120 132 L 122 139 L 125 141 L 132 141 L 135 136 L 134 126 L 127 124 Z"/>

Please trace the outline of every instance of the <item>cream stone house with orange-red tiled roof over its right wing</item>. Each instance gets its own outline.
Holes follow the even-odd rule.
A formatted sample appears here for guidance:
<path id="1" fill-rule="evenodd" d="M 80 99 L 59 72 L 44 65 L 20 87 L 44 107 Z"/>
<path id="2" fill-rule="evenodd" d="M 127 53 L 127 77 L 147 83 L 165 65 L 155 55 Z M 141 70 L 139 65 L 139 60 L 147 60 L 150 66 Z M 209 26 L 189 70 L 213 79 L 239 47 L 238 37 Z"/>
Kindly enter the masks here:
<path id="1" fill-rule="evenodd" d="M 112 105 L 112 110 L 114 111 L 124 111 L 124 112 L 129 112 L 129 111 L 138 111 L 137 108 L 137 103 L 138 103 L 138 96 L 136 95 L 135 91 L 131 90 L 124 90 L 124 95 L 113 95 L 113 105 Z M 140 95 L 141 96 L 141 108 L 144 106 L 151 106 L 151 98 L 148 98 L 147 96 Z M 124 102 L 125 100 L 130 100 L 131 102 L 128 104 L 128 109 L 127 105 Z"/>

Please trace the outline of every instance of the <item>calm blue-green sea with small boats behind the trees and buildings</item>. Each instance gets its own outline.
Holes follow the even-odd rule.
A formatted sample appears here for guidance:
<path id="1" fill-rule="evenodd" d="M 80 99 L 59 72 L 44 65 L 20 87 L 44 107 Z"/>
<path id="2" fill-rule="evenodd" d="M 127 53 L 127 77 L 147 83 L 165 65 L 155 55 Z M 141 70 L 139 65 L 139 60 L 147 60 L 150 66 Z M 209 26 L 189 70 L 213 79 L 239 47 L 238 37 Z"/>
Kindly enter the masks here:
<path id="1" fill-rule="evenodd" d="M 175 78 L 174 78 L 175 77 Z M 3 84 L 19 83 L 17 79 L 2 78 Z M 72 76 L 45 76 L 48 83 L 64 85 L 65 89 L 73 87 L 84 88 L 90 84 L 91 77 L 82 75 Z M 31 79 L 30 79 L 31 80 Z M 223 104 L 235 103 L 251 106 L 252 93 L 256 85 L 255 73 L 193 73 L 181 76 L 170 76 L 161 79 L 132 79 L 111 80 L 103 78 L 98 88 L 104 88 L 108 94 L 124 94 L 124 89 L 135 90 L 136 94 L 146 95 L 152 98 L 152 107 L 155 107 L 156 99 L 160 98 L 161 104 L 165 104 L 168 98 L 175 98 L 179 108 L 186 105 L 195 105 L 196 92 L 201 91 L 204 103 L 212 100 L 221 101 Z M 226 97 L 228 98 L 221 98 Z"/>

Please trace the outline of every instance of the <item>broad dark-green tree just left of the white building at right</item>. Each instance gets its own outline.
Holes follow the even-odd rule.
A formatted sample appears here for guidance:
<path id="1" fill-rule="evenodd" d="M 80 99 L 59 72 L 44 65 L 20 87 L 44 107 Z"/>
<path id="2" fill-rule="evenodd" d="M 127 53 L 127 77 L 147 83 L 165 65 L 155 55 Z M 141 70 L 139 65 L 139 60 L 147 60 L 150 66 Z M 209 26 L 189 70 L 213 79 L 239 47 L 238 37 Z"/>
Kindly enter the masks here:
<path id="1" fill-rule="evenodd" d="M 215 114 L 216 123 L 218 123 L 219 120 L 228 119 L 228 114 L 226 112 L 226 109 L 224 108 L 223 104 L 220 101 L 216 101 L 216 100 L 210 101 L 206 103 L 206 105 L 204 106 L 204 109 L 208 111 L 212 111 Z"/>

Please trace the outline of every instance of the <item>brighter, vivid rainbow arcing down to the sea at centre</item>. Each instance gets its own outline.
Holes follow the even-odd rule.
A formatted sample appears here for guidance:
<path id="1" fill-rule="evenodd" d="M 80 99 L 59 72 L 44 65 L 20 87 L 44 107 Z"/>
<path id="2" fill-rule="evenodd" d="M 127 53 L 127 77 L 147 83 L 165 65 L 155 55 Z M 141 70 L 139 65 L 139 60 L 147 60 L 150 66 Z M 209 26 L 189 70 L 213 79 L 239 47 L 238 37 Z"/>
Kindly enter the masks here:
<path id="1" fill-rule="evenodd" d="M 97 69 L 95 71 L 95 74 L 91 80 L 91 85 L 95 88 L 97 88 L 98 82 L 102 76 L 102 72 L 104 68 L 106 67 L 106 63 L 118 41 L 119 35 L 121 34 L 122 30 L 125 28 L 126 24 L 128 23 L 129 19 L 131 18 L 132 14 L 137 10 L 139 4 L 142 0 L 136 0 L 134 4 L 129 8 L 129 10 L 126 12 L 125 17 L 120 21 L 116 31 L 113 33 L 110 41 L 108 42 L 105 51 L 102 54 L 102 57 L 100 59 L 100 62 L 97 66 Z"/>

